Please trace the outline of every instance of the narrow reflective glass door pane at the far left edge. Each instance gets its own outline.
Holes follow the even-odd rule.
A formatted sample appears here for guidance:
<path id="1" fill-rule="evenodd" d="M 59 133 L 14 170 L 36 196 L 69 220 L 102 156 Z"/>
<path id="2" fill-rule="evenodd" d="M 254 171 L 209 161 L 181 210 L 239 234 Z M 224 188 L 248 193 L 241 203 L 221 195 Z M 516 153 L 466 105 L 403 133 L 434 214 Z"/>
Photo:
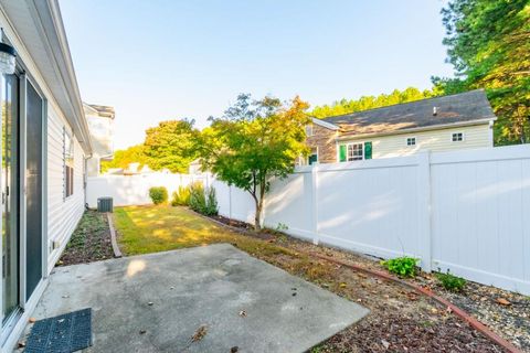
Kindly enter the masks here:
<path id="1" fill-rule="evenodd" d="M 4 321 L 19 307 L 19 78 L 2 83 L 2 313 Z"/>

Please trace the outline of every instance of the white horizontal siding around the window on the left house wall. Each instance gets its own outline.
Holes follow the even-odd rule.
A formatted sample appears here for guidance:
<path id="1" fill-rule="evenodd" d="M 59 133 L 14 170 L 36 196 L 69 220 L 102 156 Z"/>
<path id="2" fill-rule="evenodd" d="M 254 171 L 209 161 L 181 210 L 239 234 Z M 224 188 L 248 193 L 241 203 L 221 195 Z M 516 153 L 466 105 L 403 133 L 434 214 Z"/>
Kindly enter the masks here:
<path id="1" fill-rule="evenodd" d="M 84 212 L 84 153 L 74 138 L 74 193 L 64 199 L 63 129 L 67 122 L 55 113 L 47 116 L 47 248 L 49 271 L 57 261 Z M 53 248 L 53 243 L 59 247 Z"/>

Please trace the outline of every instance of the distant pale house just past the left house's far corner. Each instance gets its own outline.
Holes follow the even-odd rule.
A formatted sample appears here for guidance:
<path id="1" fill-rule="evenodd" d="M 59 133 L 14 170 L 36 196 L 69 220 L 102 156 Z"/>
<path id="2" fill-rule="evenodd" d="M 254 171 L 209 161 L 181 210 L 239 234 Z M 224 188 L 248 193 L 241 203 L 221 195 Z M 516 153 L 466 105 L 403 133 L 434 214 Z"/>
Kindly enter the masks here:
<path id="1" fill-rule="evenodd" d="M 114 156 L 114 108 L 83 103 L 85 117 L 92 136 L 93 153 L 86 161 L 88 176 L 100 173 L 102 161 L 108 161 Z"/>

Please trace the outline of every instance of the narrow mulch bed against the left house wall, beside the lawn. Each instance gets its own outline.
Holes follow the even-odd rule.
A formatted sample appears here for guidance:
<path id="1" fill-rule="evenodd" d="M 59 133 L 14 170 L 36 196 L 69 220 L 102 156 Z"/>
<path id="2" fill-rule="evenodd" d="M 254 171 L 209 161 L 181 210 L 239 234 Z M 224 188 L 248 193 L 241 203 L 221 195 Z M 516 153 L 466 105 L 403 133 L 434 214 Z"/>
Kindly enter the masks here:
<path id="1" fill-rule="evenodd" d="M 106 214 L 88 210 L 83 214 L 56 266 L 87 264 L 113 257 Z"/>

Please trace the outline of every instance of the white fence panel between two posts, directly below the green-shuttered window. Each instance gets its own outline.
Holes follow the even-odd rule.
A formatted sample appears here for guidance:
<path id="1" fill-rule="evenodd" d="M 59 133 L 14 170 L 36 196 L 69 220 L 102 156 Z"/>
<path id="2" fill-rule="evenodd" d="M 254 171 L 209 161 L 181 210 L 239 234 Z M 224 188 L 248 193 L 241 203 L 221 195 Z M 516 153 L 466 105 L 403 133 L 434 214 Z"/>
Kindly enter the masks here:
<path id="1" fill-rule="evenodd" d="M 421 180 L 416 157 L 322 165 L 318 172 L 318 236 L 381 257 L 423 258 Z M 320 169 L 320 168 L 319 168 Z"/>

